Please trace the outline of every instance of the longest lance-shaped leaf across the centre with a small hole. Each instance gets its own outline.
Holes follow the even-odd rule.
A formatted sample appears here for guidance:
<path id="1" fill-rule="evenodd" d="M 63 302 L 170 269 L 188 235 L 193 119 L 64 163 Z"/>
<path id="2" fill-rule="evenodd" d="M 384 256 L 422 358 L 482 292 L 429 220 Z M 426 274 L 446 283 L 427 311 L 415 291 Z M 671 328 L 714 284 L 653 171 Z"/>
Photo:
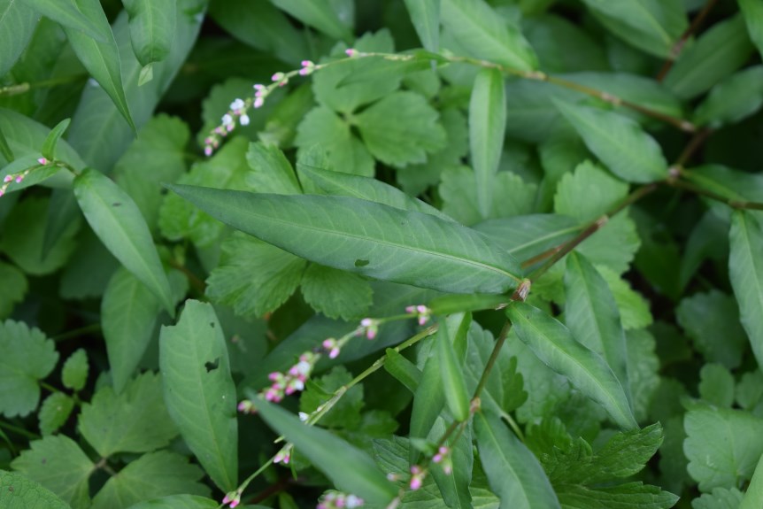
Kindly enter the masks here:
<path id="1" fill-rule="evenodd" d="M 454 293 L 505 293 L 520 281 L 511 255 L 428 214 L 351 197 L 168 187 L 227 225 L 321 265 Z"/>

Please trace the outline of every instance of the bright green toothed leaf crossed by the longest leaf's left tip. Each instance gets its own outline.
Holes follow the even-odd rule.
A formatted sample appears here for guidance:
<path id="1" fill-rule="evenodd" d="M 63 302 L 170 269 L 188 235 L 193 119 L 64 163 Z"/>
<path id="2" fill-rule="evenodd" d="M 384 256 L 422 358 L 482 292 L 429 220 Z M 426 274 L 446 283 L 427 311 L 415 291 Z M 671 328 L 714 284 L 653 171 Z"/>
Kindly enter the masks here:
<path id="1" fill-rule="evenodd" d="M 207 188 L 247 189 L 244 179 L 250 171 L 245 158 L 248 148 L 244 138 L 234 138 L 212 158 L 194 165 L 178 182 Z M 220 237 L 224 228 L 220 221 L 174 193 L 166 195 L 159 209 L 159 229 L 172 241 L 189 238 L 197 246 L 208 246 Z"/>

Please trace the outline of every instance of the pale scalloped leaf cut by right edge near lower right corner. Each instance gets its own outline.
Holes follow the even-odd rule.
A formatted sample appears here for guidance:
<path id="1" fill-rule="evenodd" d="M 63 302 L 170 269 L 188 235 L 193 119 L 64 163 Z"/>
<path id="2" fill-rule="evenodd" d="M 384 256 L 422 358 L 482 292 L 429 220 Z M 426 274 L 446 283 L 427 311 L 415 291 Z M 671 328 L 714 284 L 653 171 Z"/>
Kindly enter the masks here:
<path id="1" fill-rule="evenodd" d="M 751 413 L 696 405 L 686 413 L 683 451 L 699 490 L 749 481 L 763 455 L 763 420 Z"/>

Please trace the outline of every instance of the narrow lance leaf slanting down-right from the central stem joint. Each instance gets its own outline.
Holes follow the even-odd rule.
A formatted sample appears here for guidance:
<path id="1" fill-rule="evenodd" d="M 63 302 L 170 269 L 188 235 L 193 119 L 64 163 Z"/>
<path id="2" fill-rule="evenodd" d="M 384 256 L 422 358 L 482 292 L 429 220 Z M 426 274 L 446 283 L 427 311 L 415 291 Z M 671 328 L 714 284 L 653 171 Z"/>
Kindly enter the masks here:
<path id="1" fill-rule="evenodd" d="M 604 359 L 574 340 L 569 329 L 547 313 L 515 303 L 506 309 L 522 343 L 543 364 L 565 375 L 573 385 L 601 404 L 620 428 L 638 428 L 625 390 Z"/>

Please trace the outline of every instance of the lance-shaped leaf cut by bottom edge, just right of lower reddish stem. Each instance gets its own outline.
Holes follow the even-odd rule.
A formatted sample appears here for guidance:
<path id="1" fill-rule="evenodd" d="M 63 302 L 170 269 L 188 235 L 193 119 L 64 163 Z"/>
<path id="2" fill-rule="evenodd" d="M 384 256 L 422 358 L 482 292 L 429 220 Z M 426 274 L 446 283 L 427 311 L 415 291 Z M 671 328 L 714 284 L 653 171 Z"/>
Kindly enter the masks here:
<path id="1" fill-rule="evenodd" d="M 561 507 L 536 457 L 497 416 L 475 413 L 474 434 L 490 488 L 501 498 L 502 507 Z"/>

